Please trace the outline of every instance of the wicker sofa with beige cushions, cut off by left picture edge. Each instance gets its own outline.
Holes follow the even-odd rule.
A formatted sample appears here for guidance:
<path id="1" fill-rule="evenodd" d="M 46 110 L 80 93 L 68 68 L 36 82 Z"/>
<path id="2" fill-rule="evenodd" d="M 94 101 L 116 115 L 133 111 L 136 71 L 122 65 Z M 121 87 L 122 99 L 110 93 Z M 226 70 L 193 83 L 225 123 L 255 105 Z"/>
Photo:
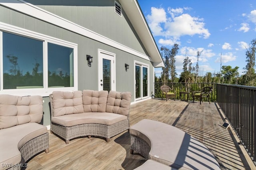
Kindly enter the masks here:
<path id="1" fill-rule="evenodd" d="M 35 154 L 48 152 L 42 116 L 42 96 L 0 95 L 0 170 L 21 169 Z"/>

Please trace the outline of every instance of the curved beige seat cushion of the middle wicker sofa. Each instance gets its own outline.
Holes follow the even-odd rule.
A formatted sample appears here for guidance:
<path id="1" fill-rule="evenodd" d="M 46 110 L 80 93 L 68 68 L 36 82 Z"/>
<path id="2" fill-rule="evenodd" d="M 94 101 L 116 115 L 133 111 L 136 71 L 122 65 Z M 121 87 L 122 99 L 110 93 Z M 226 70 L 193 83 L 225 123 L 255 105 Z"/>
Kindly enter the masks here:
<path id="1" fill-rule="evenodd" d="M 52 117 L 52 122 L 65 127 L 71 127 L 74 125 L 81 125 L 85 123 L 99 123 L 104 125 L 113 125 L 122 120 L 127 119 L 124 115 L 119 115 L 115 113 L 106 112 L 87 112 L 78 113 L 72 115 L 62 115 L 57 117 Z"/>

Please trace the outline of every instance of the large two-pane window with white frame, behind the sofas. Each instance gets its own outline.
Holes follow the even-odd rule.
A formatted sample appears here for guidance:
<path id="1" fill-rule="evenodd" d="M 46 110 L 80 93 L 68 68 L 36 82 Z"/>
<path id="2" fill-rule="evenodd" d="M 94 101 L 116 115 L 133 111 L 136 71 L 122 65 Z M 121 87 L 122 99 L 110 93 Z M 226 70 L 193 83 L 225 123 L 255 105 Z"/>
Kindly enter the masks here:
<path id="1" fill-rule="evenodd" d="M 76 44 L 0 31 L 0 47 L 0 94 L 48 96 L 55 90 L 77 90 Z"/>

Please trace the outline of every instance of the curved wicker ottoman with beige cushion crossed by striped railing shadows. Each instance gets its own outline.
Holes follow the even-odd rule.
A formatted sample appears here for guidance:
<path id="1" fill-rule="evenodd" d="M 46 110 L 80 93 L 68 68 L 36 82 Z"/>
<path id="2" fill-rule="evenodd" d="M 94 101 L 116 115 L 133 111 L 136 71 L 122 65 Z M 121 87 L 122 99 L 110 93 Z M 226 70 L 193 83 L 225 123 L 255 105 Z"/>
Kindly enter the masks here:
<path id="1" fill-rule="evenodd" d="M 146 159 L 176 169 L 220 169 L 205 145 L 174 126 L 143 119 L 132 125 L 129 132 L 131 154 L 136 151 Z"/>

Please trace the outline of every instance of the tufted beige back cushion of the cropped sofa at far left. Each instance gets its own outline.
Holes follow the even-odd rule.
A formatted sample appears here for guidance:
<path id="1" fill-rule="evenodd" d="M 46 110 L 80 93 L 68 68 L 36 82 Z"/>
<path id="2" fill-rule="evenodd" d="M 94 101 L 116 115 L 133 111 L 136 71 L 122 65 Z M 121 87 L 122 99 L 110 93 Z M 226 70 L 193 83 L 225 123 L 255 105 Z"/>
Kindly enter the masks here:
<path id="1" fill-rule="evenodd" d="M 40 123 L 42 117 L 42 96 L 0 95 L 0 129 L 29 122 Z"/>

